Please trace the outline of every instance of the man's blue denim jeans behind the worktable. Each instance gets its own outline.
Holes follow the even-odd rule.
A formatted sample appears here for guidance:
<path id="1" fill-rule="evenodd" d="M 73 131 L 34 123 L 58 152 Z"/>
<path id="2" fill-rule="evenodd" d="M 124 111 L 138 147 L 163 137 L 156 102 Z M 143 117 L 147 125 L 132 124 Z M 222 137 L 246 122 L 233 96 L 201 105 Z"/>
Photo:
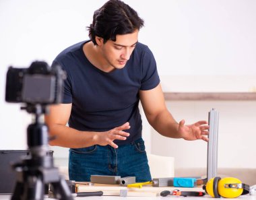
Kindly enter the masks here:
<path id="1" fill-rule="evenodd" d="M 135 176 L 136 182 L 152 180 L 143 139 L 119 145 L 69 149 L 69 179 L 90 181 L 91 175 Z"/>

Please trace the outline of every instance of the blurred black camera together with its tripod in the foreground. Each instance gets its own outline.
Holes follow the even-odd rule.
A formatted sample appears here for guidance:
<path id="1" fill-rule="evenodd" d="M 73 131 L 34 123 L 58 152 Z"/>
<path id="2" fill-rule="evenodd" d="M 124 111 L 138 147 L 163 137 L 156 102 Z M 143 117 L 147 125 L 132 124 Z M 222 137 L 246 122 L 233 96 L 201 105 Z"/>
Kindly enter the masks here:
<path id="1" fill-rule="evenodd" d="M 34 114 L 33 123 L 27 128 L 30 156 L 13 164 L 17 174 L 12 200 L 43 200 L 52 185 L 59 199 L 73 200 L 67 182 L 53 166 L 49 153 L 49 128 L 42 120 L 48 113 L 48 104 L 59 104 L 63 98 L 65 73 L 59 65 L 49 67 L 43 61 L 35 61 L 28 68 L 9 67 L 6 77 L 5 100 L 26 103 L 22 107 Z M 53 137 L 54 138 L 54 137 Z"/>

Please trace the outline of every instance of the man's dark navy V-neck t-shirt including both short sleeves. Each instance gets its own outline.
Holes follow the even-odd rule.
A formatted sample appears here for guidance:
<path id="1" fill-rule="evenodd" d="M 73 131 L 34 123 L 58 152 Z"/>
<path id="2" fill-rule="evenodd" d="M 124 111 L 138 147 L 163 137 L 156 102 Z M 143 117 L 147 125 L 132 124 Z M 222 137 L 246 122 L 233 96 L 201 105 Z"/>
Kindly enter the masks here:
<path id="1" fill-rule="evenodd" d="M 79 131 L 108 131 L 129 121 L 130 136 L 115 143 L 122 145 L 139 139 L 142 130 L 139 90 L 151 90 L 160 83 L 152 52 L 138 42 L 123 69 L 106 73 L 84 55 L 86 42 L 66 48 L 53 61 L 53 65 L 61 65 L 67 73 L 63 103 L 72 103 L 69 127 Z"/>

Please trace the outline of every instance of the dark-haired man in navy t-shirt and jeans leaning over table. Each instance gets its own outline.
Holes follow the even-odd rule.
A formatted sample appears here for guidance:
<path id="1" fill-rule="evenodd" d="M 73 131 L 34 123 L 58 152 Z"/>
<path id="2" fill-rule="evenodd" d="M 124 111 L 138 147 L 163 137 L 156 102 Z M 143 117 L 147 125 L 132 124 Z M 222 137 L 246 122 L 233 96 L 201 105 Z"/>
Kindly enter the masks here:
<path id="1" fill-rule="evenodd" d="M 168 112 L 154 56 L 138 42 L 142 26 L 129 5 L 110 0 L 94 12 L 90 40 L 70 46 L 53 61 L 67 79 L 63 104 L 51 106 L 46 123 L 57 136 L 50 144 L 70 148 L 71 180 L 90 181 L 92 174 L 152 179 L 139 100 L 161 135 L 207 141 L 206 121 L 185 125 Z"/>

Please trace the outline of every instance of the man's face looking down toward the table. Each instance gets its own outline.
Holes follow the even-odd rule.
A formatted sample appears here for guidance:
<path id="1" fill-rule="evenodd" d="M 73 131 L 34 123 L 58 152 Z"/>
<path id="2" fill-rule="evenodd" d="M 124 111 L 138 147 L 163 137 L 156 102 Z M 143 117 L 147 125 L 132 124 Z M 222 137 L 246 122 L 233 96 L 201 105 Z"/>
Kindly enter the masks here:
<path id="1" fill-rule="evenodd" d="M 138 33 L 139 30 L 135 30 L 131 34 L 117 35 L 115 42 L 108 40 L 105 44 L 102 44 L 102 56 L 109 67 L 114 69 L 125 67 L 137 44 Z"/>

